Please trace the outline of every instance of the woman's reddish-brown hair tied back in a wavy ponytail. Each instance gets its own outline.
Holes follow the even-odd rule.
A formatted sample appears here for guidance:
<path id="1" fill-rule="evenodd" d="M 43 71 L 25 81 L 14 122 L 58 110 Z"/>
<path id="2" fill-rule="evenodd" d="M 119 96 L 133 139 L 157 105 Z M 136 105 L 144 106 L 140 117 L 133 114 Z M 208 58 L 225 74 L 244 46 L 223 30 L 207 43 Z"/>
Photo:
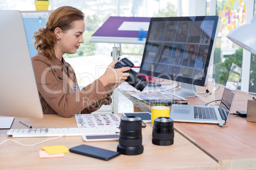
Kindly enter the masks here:
<path id="1" fill-rule="evenodd" d="M 46 28 L 40 28 L 34 32 L 34 47 L 38 53 L 43 53 L 46 58 L 52 59 L 53 46 L 57 42 L 54 30 L 59 27 L 63 32 L 73 28 L 76 20 L 83 20 L 85 15 L 82 11 L 72 6 L 62 6 L 54 10 L 46 22 Z"/>

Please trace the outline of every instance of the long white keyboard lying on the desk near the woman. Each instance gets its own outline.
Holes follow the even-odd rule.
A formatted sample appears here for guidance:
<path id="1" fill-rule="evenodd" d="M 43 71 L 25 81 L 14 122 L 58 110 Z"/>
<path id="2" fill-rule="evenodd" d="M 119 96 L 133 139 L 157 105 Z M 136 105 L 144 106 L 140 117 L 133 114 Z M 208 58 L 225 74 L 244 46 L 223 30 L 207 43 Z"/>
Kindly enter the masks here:
<path id="1" fill-rule="evenodd" d="M 115 126 L 100 128 L 48 128 L 48 129 L 10 129 L 6 134 L 13 137 L 82 136 L 83 134 L 114 134 L 120 129 Z"/>

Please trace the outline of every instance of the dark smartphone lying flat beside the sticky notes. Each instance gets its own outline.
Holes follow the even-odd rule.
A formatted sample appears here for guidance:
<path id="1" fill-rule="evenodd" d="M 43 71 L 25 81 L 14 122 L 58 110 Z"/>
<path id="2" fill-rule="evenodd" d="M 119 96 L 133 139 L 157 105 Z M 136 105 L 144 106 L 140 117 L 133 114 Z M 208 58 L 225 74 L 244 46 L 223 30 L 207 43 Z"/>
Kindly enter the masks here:
<path id="1" fill-rule="evenodd" d="M 69 152 L 94 157 L 101 160 L 110 160 L 120 155 L 119 152 L 114 152 L 103 148 L 92 147 L 89 145 L 78 145 L 76 147 L 69 148 Z"/>

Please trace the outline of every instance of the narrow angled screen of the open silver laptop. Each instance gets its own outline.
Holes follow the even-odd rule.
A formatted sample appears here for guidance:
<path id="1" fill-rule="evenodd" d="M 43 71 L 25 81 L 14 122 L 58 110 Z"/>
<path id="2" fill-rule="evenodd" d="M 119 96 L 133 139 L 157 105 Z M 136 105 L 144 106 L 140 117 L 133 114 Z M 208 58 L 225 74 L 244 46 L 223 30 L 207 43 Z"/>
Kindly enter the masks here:
<path id="1" fill-rule="evenodd" d="M 242 69 L 232 63 L 229 77 L 227 78 L 227 83 L 225 85 L 224 93 L 222 96 L 222 101 L 220 102 L 220 109 L 224 111 L 225 121 L 227 121 L 226 119 L 234 101 L 234 96 L 236 89 L 238 88 L 241 72 Z"/>

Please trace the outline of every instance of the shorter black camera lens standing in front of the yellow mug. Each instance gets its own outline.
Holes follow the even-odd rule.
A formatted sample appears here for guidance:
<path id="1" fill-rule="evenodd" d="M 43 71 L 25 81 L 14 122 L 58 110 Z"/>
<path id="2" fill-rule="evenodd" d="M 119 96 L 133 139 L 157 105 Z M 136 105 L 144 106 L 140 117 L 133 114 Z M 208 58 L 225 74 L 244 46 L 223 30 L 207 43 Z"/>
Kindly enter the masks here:
<path id="1" fill-rule="evenodd" d="M 170 117 L 157 117 L 153 122 L 152 143 L 154 145 L 173 145 L 174 127 Z"/>

